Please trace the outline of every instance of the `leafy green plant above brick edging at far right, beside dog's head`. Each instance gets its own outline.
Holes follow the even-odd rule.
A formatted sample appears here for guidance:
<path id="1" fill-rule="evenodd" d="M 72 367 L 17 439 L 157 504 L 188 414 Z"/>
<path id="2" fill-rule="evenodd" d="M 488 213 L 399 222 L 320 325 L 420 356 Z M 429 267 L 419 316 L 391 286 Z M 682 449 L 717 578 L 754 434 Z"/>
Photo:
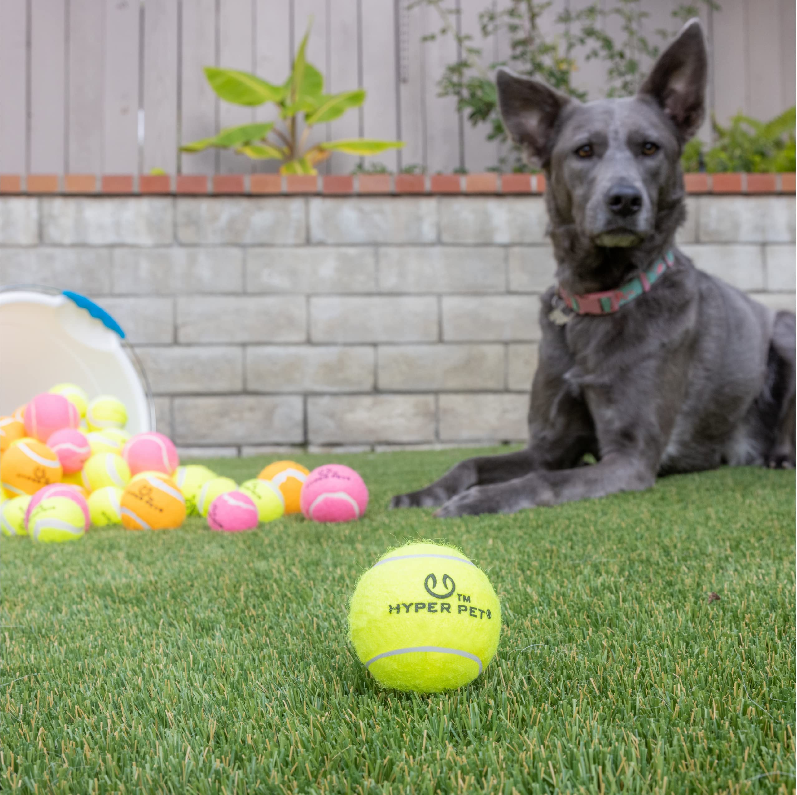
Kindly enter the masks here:
<path id="1" fill-rule="evenodd" d="M 681 165 L 685 171 L 794 171 L 795 108 L 768 122 L 739 113 L 723 127 L 713 119 L 717 141 L 709 149 L 700 139 L 684 147 Z"/>

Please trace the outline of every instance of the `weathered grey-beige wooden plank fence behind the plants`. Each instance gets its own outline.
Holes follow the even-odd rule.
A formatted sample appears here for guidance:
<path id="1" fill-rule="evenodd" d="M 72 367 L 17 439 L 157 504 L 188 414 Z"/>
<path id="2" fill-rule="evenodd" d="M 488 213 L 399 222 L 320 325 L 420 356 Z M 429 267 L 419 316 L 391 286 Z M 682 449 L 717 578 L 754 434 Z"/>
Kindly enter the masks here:
<path id="1" fill-rule="evenodd" d="M 499 151 L 454 101 L 437 96 L 443 67 L 457 57 L 429 7 L 408 0 L 2 0 L 0 3 L 0 168 L 5 173 L 168 173 L 273 170 L 228 152 L 180 154 L 179 143 L 221 127 L 269 119 L 269 108 L 219 103 L 206 65 L 257 72 L 279 81 L 312 17 L 308 58 L 332 92 L 362 86 L 367 100 L 325 125 L 328 139 L 365 135 L 406 147 L 377 159 L 391 170 L 484 170 Z M 464 32 L 478 33 L 491 0 L 446 0 Z M 501 2 L 501 0 L 493 0 Z M 545 14 L 589 0 L 556 0 Z M 604 3 L 614 0 L 602 0 Z M 678 0 L 645 0 L 654 29 L 676 26 Z M 764 119 L 795 103 L 795 0 L 719 0 L 704 10 L 712 69 L 709 103 L 719 119 L 743 110 Z M 484 42 L 485 59 L 507 42 Z M 600 96 L 603 72 L 581 62 L 576 82 Z M 324 170 L 355 165 L 335 155 Z"/>

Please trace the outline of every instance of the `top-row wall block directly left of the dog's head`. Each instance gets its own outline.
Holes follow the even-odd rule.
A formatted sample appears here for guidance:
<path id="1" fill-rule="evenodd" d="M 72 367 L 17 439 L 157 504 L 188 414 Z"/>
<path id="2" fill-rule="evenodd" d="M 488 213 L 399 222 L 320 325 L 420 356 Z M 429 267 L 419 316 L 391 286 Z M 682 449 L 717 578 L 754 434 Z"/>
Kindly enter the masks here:
<path id="1" fill-rule="evenodd" d="M 443 243 L 544 243 L 548 227 L 539 196 L 441 197 Z"/>

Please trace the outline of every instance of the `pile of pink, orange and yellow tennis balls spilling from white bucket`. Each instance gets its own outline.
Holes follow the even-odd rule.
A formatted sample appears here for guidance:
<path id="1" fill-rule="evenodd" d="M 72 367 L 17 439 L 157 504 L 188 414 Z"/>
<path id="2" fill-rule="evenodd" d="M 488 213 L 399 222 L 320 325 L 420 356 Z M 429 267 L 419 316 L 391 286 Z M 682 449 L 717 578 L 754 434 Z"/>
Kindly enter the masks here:
<path id="1" fill-rule="evenodd" d="M 92 526 L 167 530 L 186 515 L 237 532 L 300 511 L 316 522 L 345 522 L 366 510 L 363 479 L 342 464 L 309 472 L 277 461 L 239 486 L 200 464 L 180 466 L 171 439 L 131 436 L 127 422 L 122 401 L 89 401 L 74 384 L 53 386 L 0 417 L 3 535 L 63 542 Z"/>

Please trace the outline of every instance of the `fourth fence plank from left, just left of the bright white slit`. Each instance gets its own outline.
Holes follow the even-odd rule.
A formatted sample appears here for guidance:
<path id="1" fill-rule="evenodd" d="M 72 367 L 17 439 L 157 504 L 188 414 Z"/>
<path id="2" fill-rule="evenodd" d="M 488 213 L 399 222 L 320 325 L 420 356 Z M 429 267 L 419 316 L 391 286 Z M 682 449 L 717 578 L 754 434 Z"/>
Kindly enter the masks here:
<path id="1" fill-rule="evenodd" d="M 105 6 L 105 113 L 103 170 L 139 170 L 139 4 L 117 0 Z"/>

